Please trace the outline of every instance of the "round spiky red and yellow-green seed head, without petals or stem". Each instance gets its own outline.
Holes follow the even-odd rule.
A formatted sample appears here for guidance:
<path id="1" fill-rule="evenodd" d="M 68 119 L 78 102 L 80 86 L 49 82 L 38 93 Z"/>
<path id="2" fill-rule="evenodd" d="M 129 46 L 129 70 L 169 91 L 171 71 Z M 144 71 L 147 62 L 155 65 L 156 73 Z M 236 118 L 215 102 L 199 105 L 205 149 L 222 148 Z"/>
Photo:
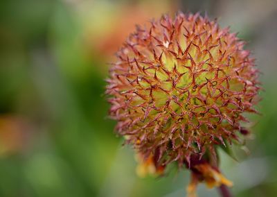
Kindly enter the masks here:
<path id="1" fill-rule="evenodd" d="M 198 14 L 137 26 L 107 80 L 110 116 L 126 142 L 155 164 L 190 162 L 238 139 L 256 112 L 258 71 L 244 42 Z"/>

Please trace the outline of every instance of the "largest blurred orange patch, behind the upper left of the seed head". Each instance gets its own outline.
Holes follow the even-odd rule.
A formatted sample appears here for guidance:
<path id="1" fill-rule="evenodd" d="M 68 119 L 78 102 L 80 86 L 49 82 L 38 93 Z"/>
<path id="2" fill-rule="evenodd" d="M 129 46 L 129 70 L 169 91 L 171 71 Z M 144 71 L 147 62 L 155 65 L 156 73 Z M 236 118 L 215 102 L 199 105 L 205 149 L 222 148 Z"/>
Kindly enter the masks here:
<path id="1" fill-rule="evenodd" d="M 87 33 L 89 48 L 100 57 L 113 58 L 119 46 L 125 42 L 127 35 L 135 31 L 136 24 L 146 24 L 163 13 L 175 12 L 177 4 L 170 1 L 144 1 L 119 6 L 112 15 L 106 17 L 105 27 L 91 29 Z M 102 19 L 101 19 L 102 20 Z"/>

